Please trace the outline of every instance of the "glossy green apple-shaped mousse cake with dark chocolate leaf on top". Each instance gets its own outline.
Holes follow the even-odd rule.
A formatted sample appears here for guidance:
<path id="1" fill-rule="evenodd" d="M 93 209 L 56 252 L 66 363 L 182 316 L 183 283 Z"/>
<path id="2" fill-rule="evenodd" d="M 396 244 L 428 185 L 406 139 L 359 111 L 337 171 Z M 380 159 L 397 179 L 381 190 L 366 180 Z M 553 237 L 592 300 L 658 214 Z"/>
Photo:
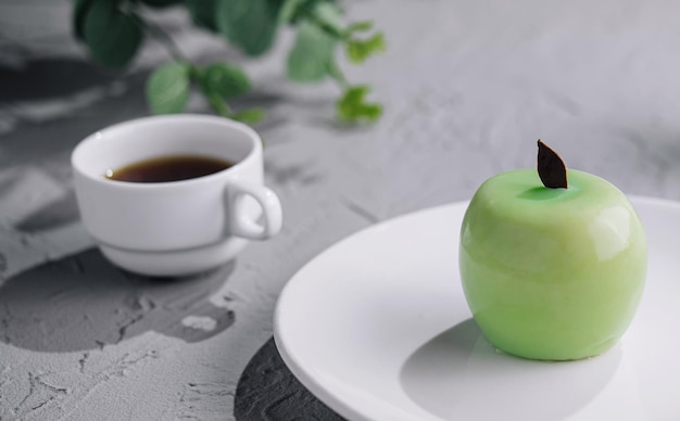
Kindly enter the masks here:
<path id="1" fill-rule="evenodd" d="M 644 230 L 608 181 L 570 169 L 539 140 L 538 171 L 499 174 L 475 193 L 459 268 L 475 321 L 499 349 L 574 360 L 612 347 L 646 275 Z"/>

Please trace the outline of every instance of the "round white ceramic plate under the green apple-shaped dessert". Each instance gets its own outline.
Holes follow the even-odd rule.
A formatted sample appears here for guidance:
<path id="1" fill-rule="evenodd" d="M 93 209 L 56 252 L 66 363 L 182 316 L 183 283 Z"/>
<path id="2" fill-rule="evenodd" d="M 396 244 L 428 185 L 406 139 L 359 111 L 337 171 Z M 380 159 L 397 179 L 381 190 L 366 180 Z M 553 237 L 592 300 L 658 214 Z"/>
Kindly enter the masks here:
<path id="1" fill-rule="evenodd" d="M 457 268 L 467 203 L 377 225 L 313 259 L 279 297 L 277 347 L 350 420 L 680 420 L 680 204 L 632 201 L 647 283 L 604 355 L 529 361 L 483 340 Z"/>

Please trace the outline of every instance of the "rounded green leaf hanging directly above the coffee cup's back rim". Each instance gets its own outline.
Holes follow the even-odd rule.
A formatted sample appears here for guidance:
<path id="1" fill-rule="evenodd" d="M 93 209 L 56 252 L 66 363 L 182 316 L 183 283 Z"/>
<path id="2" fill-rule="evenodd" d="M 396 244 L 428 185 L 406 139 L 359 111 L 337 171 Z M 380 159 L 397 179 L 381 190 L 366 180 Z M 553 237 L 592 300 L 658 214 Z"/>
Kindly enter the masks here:
<path id="1" fill-rule="evenodd" d="M 189 101 L 190 65 L 171 62 L 158 67 L 147 80 L 147 102 L 154 114 L 184 111 Z"/>

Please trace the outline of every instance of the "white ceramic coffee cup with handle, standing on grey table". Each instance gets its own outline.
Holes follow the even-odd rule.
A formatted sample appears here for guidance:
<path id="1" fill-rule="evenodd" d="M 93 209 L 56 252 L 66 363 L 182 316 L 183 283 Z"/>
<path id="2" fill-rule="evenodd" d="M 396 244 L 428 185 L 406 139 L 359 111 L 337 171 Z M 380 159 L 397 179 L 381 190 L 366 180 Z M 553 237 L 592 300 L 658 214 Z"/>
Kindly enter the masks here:
<path id="1" fill-rule="evenodd" d="M 160 156 L 200 155 L 235 163 L 187 180 L 129 182 L 115 170 Z M 90 135 L 71 156 L 83 224 L 115 265 L 150 276 L 222 265 L 281 229 L 281 205 L 264 187 L 262 141 L 250 127 L 207 115 L 168 115 Z"/>

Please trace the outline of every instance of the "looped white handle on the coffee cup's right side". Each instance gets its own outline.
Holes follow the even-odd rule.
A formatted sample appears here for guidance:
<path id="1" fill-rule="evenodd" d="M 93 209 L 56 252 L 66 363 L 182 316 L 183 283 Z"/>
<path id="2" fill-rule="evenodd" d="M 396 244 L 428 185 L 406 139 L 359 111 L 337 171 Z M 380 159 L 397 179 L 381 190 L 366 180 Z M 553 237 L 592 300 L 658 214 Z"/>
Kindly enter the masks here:
<path id="1" fill-rule="evenodd" d="M 241 202 L 245 196 L 262 207 L 262 225 L 243 215 Z M 284 213 L 276 193 L 264 186 L 248 181 L 229 181 L 226 187 L 229 233 L 250 240 L 266 240 L 281 230 Z"/>

